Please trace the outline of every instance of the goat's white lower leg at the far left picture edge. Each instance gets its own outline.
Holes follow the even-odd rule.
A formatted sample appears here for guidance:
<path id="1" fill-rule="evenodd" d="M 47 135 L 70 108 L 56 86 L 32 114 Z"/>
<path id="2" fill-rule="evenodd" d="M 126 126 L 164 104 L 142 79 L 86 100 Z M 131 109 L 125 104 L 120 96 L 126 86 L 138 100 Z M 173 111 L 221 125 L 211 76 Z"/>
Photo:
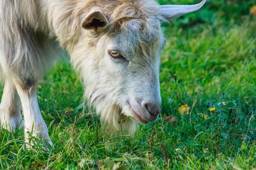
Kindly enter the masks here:
<path id="1" fill-rule="evenodd" d="M 15 86 L 6 79 L 0 104 L 0 125 L 12 131 L 22 128 L 23 123 L 20 113 L 20 98 Z"/>

